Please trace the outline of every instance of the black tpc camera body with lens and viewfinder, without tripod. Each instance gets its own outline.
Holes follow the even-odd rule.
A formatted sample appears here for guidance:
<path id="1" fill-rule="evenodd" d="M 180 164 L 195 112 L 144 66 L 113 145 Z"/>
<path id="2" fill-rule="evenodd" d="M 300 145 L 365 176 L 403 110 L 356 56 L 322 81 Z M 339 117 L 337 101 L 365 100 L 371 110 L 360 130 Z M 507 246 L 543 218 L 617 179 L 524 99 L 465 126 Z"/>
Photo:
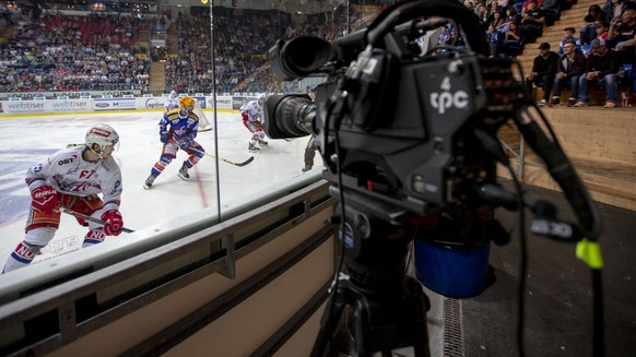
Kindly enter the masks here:
<path id="1" fill-rule="evenodd" d="M 448 7 L 455 9 L 445 2 L 444 9 Z M 468 19 L 480 31 L 466 8 L 455 10 L 464 27 L 471 28 Z M 400 212 L 425 215 L 449 203 L 483 204 L 474 191 L 495 181 L 495 162 L 474 129 L 496 131 L 509 118 L 498 111 L 511 110 L 516 93 L 523 92 L 513 85 L 510 62 L 487 59 L 487 44 L 479 36 L 472 46 L 478 52 L 417 52 L 414 43 L 427 22 L 429 17 L 419 17 L 387 26 L 391 28 L 376 33 L 381 38 L 376 45 L 365 46 L 372 28 L 332 46 L 309 36 L 279 41 L 269 52 L 281 79 L 328 79 L 317 87 L 315 103 L 305 95 L 270 96 L 264 110 L 268 136 L 316 135 L 326 163 L 323 177 L 339 189 L 381 202 L 382 209 L 374 211 L 388 219 Z M 307 56 L 306 48 L 316 48 L 315 55 Z M 357 58 L 351 60 L 354 52 Z M 509 85 L 508 94 L 502 83 Z M 496 92 L 502 92 L 498 99 Z"/>

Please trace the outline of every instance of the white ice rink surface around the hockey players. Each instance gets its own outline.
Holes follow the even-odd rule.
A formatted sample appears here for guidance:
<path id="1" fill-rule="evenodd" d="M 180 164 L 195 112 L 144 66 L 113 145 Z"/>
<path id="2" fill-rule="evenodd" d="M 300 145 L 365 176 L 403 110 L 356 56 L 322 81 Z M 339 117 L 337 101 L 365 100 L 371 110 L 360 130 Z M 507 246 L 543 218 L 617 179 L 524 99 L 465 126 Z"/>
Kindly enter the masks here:
<path id="1" fill-rule="evenodd" d="M 31 194 L 24 182 L 26 169 L 68 144 L 83 143 L 86 130 L 96 123 L 115 128 L 120 147 L 114 153 L 123 180 L 121 214 L 127 228 L 138 230 L 185 216 L 205 207 L 222 206 L 237 200 L 258 198 L 273 183 L 303 176 L 303 157 L 307 138 L 269 140 L 260 152 L 247 150 L 250 133 L 237 112 L 205 111 L 205 117 L 217 128 L 199 132 L 197 141 L 210 154 L 244 162 L 237 167 L 204 156 L 190 172 L 190 180 L 177 177 L 187 154 L 179 151 L 177 158 L 155 180 L 151 190 L 143 189 L 150 169 L 160 158 L 160 111 L 126 111 L 81 115 L 49 115 L 39 117 L 1 118 L 0 132 L 0 269 L 15 246 L 22 241 Z M 216 119 L 216 120 L 215 120 Z M 317 164 L 319 156 L 316 157 Z M 219 175 L 216 175 L 219 167 Z M 320 165 L 314 167 L 319 169 Z M 219 179 L 217 179 L 219 177 Z M 220 190 L 217 190 L 217 187 Z M 220 199 L 219 199 L 220 198 Z M 75 218 L 62 214 L 60 229 L 43 249 L 37 261 L 79 250 L 87 228 Z M 126 234 L 107 239 L 126 239 Z"/>

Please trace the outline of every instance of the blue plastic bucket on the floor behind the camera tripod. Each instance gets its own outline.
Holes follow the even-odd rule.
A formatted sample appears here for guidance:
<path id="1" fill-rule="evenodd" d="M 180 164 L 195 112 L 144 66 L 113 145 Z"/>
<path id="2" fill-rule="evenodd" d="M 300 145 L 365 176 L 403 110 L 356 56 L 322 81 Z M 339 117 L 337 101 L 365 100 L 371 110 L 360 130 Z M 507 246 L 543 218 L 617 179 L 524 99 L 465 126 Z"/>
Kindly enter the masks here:
<path id="1" fill-rule="evenodd" d="M 480 295 L 486 288 L 490 241 L 448 245 L 415 239 L 417 279 L 428 289 L 452 298 Z"/>

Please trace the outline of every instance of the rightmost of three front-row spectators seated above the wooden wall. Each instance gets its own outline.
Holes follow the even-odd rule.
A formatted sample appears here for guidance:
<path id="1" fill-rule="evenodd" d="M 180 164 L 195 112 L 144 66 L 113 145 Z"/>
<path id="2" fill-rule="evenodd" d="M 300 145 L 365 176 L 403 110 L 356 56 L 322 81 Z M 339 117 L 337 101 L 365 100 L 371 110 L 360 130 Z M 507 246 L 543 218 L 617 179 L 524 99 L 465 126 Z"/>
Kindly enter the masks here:
<path id="1" fill-rule="evenodd" d="M 619 106 L 619 56 L 608 49 L 605 41 L 594 38 L 591 44 L 592 55 L 588 58 L 586 73 L 579 79 L 578 102 L 575 107 L 586 106 L 588 84 L 601 84 L 605 87 L 605 108 Z"/>

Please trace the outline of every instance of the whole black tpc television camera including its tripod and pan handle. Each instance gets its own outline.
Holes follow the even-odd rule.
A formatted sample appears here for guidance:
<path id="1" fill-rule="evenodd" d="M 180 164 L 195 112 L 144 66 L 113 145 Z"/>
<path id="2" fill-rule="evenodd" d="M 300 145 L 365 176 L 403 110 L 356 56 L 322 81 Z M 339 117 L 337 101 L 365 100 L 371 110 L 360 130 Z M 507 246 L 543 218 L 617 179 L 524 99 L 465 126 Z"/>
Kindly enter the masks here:
<path id="1" fill-rule="evenodd" d="M 423 53 L 417 40 L 444 24 L 455 26 L 462 43 Z M 518 63 L 490 57 L 476 16 L 461 4 L 398 2 L 367 28 L 332 44 L 313 36 L 279 40 L 268 57 L 283 81 L 327 78 L 316 102 L 272 95 L 264 105 L 268 136 L 316 135 L 322 176 L 341 203 L 337 223 L 344 271 L 339 267 L 330 289 L 315 356 L 337 348 L 346 306 L 355 321 L 349 326 L 349 353 L 428 354 L 426 297 L 404 274 L 409 245 L 427 217 L 447 210 L 523 210 L 520 190 L 509 192 L 496 180 L 496 163 L 509 166 L 496 132 L 510 119 L 561 186 L 581 235 L 599 236 L 597 209 L 554 134 L 542 129 L 550 127 L 518 80 Z M 506 242 L 504 229 L 490 218 L 470 222 L 479 227 L 476 238 L 463 235 L 455 243 L 484 237 Z M 558 224 L 554 214 L 544 218 L 538 233 L 581 238 L 572 234 L 576 229 L 560 237 L 563 230 L 550 228 Z"/>

